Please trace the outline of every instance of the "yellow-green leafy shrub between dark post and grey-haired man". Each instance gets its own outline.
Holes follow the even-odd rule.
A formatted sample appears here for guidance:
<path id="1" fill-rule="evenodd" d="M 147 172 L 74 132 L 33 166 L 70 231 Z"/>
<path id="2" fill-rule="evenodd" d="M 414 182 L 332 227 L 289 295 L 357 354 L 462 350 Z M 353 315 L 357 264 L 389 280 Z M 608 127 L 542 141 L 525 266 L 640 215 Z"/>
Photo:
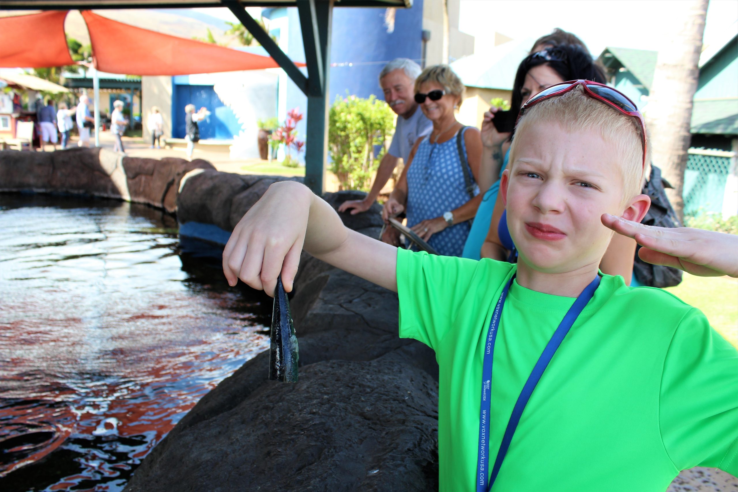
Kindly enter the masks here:
<path id="1" fill-rule="evenodd" d="M 328 114 L 328 154 L 339 190 L 369 190 L 393 131 L 393 111 L 384 101 L 374 96 L 336 98 Z M 375 145 L 382 145 L 376 156 Z"/>

